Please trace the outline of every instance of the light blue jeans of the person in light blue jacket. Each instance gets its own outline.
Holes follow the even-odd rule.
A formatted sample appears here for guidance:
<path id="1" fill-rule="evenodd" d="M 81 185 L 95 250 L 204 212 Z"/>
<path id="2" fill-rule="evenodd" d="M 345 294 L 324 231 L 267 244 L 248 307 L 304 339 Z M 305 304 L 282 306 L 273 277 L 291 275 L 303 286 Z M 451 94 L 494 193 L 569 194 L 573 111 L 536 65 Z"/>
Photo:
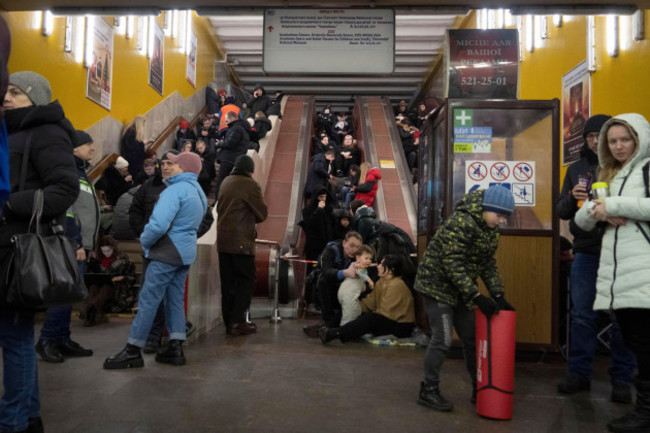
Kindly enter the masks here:
<path id="1" fill-rule="evenodd" d="M 131 325 L 128 343 L 144 347 L 162 300 L 170 340 L 185 341 L 185 277 L 189 265 L 174 266 L 152 260 L 138 296 L 138 314 Z"/>

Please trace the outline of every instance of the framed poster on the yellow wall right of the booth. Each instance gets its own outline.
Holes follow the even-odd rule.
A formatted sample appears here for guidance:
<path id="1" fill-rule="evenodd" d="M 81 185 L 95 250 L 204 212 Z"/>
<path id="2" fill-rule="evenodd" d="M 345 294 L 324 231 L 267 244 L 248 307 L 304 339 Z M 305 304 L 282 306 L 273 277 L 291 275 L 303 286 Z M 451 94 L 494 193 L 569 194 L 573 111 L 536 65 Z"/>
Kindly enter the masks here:
<path id="1" fill-rule="evenodd" d="M 562 76 L 562 165 L 580 159 L 591 111 L 590 76 L 586 60 Z"/>

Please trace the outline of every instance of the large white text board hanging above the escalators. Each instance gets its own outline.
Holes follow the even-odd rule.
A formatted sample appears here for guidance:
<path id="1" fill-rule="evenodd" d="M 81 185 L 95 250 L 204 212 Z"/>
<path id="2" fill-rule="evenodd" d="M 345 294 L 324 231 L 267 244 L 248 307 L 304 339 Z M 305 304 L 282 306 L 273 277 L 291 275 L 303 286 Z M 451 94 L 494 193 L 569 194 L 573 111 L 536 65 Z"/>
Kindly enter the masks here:
<path id="1" fill-rule="evenodd" d="M 395 61 L 392 9 L 266 9 L 264 71 L 389 74 Z"/>

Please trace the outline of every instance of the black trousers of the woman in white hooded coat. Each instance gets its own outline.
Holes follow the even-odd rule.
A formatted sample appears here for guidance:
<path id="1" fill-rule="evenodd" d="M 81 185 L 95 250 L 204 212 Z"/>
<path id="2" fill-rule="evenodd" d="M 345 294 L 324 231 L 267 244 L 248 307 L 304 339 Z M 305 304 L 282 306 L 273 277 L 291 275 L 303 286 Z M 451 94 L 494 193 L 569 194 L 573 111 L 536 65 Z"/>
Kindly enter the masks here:
<path id="1" fill-rule="evenodd" d="M 622 308 L 616 310 L 616 320 L 623 342 L 636 355 L 638 379 L 650 381 L 650 309 Z"/>

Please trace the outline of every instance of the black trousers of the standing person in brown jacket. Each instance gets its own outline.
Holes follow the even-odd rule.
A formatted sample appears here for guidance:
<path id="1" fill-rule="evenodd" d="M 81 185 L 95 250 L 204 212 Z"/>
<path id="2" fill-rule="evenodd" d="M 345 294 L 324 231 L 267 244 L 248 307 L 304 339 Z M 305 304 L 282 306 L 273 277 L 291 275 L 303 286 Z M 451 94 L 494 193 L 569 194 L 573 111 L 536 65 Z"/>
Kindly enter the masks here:
<path id="1" fill-rule="evenodd" d="M 221 313 L 226 329 L 246 320 L 255 290 L 255 256 L 219 253 Z"/>

